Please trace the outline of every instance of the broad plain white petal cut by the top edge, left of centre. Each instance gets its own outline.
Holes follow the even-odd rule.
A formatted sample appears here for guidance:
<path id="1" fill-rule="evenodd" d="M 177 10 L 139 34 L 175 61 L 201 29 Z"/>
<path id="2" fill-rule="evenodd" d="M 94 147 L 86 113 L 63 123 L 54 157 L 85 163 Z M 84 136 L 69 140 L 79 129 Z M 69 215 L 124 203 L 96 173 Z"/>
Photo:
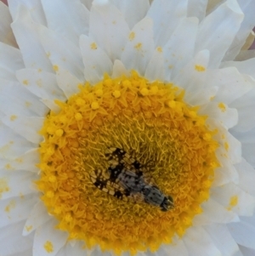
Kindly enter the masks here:
<path id="1" fill-rule="evenodd" d="M 79 45 L 81 34 L 88 35 L 88 9 L 78 0 L 42 0 L 48 28 Z M 53 11 L 54 10 L 54 11 Z"/>

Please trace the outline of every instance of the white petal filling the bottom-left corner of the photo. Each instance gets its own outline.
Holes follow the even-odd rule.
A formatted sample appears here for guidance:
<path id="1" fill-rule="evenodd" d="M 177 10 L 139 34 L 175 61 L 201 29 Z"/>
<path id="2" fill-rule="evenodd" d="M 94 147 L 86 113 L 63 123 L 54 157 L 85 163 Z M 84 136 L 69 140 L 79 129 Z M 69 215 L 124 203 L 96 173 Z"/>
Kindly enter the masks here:
<path id="1" fill-rule="evenodd" d="M 20 221 L 0 229 L 0 252 L 2 255 L 12 256 L 14 253 L 18 253 L 18 255 L 25 256 L 26 254 L 23 252 L 26 253 L 32 247 L 33 234 L 29 237 L 21 236 L 23 226 L 24 221 Z"/>

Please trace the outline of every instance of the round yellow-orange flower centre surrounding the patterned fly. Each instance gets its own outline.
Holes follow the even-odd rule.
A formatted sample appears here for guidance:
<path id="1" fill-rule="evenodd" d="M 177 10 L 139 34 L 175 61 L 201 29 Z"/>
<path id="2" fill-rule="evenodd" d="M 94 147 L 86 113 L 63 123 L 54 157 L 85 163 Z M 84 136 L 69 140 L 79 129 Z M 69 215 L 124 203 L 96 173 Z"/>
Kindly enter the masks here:
<path id="1" fill-rule="evenodd" d="M 59 112 L 51 111 L 41 130 L 37 187 L 70 239 L 134 254 L 184 235 L 208 199 L 218 143 L 207 117 L 183 98 L 184 90 L 173 84 L 148 82 L 133 71 L 130 77 L 86 83 L 66 102 L 56 101 Z M 173 208 L 163 212 L 143 200 L 111 196 L 111 189 L 123 187 L 116 179 L 108 192 L 94 185 L 95 171 L 110 179 L 105 151 L 111 147 L 145 166 L 144 177 L 173 197 Z"/>

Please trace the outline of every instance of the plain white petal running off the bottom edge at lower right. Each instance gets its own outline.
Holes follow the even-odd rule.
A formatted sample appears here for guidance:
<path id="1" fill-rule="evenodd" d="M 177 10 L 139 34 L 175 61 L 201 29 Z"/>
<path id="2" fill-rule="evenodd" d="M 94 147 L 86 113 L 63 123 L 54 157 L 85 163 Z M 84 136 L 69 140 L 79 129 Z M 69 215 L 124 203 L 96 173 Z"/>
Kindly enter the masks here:
<path id="1" fill-rule="evenodd" d="M 206 225 L 204 227 L 208 234 L 212 237 L 214 245 L 224 256 L 242 256 L 235 240 L 230 235 L 226 225 Z"/>

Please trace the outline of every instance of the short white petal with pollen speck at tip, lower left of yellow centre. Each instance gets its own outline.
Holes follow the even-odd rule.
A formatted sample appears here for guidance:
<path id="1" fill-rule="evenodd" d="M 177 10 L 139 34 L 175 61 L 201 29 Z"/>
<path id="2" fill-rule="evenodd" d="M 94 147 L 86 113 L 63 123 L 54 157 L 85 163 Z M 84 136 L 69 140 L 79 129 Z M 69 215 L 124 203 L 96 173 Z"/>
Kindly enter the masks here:
<path id="1" fill-rule="evenodd" d="M 26 219 L 26 224 L 24 226 L 22 235 L 29 235 L 33 230 L 36 230 L 37 227 L 48 222 L 49 219 L 52 219 L 52 216 L 48 214 L 43 202 L 41 200 L 38 201 L 36 204 L 34 204 L 34 207 L 31 209 L 31 212 Z"/>

